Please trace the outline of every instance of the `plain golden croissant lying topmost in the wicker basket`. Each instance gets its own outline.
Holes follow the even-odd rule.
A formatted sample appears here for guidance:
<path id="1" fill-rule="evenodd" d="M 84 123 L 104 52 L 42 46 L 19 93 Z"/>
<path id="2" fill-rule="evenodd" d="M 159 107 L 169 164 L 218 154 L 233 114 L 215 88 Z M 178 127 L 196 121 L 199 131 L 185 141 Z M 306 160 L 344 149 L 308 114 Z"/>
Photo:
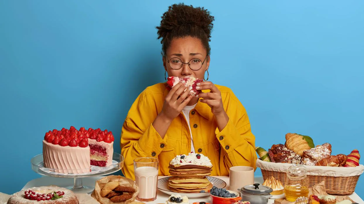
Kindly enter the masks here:
<path id="1" fill-rule="evenodd" d="M 285 146 L 300 156 L 303 155 L 303 151 L 314 148 L 312 138 L 296 133 L 286 134 Z"/>

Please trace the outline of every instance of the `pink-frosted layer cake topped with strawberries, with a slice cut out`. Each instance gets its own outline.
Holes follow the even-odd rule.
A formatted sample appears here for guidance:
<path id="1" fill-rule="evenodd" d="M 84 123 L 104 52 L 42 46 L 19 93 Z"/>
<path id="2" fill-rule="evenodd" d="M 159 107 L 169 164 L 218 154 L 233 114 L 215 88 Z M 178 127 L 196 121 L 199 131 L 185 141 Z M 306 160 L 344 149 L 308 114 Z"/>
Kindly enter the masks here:
<path id="1" fill-rule="evenodd" d="M 43 163 L 55 172 L 80 174 L 91 171 L 91 165 L 112 164 L 112 132 L 81 127 L 48 131 L 43 140 Z"/>

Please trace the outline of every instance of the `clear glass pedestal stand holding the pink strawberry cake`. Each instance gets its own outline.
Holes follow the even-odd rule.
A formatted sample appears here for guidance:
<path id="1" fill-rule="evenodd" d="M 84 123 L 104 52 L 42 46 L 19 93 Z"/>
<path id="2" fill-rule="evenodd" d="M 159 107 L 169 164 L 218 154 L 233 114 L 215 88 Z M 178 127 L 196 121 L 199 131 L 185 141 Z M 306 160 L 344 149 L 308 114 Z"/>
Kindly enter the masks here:
<path id="1" fill-rule="evenodd" d="M 87 169 L 54 169 L 46 168 L 43 163 L 43 154 L 36 155 L 31 159 L 32 170 L 43 176 L 58 178 L 74 178 L 74 185 L 66 187 L 74 193 L 92 193 L 94 187 L 83 186 L 82 178 L 104 176 L 119 171 L 124 165 L 124 157 L 116 152 L 112 154 L 112 164 L 106 167 L 91 166 Z M 90 171 L 91 170 L 91 171 Z M 75 172 L 75 173 L 74 173 Z M 79 173 L 77 173 L 79 172 Z M 85 172 L 85 173 L 82 173 Z"/>

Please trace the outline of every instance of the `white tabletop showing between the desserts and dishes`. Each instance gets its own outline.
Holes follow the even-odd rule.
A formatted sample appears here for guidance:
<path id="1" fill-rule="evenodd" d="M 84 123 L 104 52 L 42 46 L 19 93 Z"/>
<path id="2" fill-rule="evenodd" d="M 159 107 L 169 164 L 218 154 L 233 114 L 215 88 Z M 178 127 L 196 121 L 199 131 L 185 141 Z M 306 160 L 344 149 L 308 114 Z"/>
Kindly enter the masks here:
<path id="1" fill-rule="evenodd" d="M 163 178 L 163 177 L 165 177 L 165 176 L 159 176 L 158 178 Z M 214 177 L 224 180 L 227 184 L 226 188 L 229 189 L 229 176 L 214 176 Z M 83 185 L 95 186 L 96 180 L 99 180 L 101 178 L 103 178 L 103 176 L 82 178 L 82 183 L 83 183 Z M 254 183 L 263 183 L 262 176 L 255 176 Z M 72 178 L 41 177 L 41 178 L 37 178 L 37 179 L 33 179 L 33 180 L 29 181 L 27 184 L 25 184 L 25 186 L 22 188 L 22 190 L 28 189 L 31 187 L 40 187 L 40 186 L 47 186 L 47 185 L 57 185 L 59 187 L 67 187 L 67 186 L 73 185 L 73 179 Z M 153 202 L 147 202 L 147 204 L 157 204 L 157 203 L 164 204 L 164 203 L 166 203 L 166 200 L 168 199 L 168 197 L 169 197 L 169 195 L 157 190 L 157 200 L 155 200 Z M 352 195 L 350 195 L 349 197 L 359 204 L 364 204 L 364 201 L 355 192 Z M 199 199 L 190 199 L 190 203 L 200 202 L 200 201 L 210 203 L 210 197 L 204 197 L 204 198 L 199 198 Z M 274 203 L 274 200 L 269 199 L 268 204 L 273 204 L 273 203 Z"/>

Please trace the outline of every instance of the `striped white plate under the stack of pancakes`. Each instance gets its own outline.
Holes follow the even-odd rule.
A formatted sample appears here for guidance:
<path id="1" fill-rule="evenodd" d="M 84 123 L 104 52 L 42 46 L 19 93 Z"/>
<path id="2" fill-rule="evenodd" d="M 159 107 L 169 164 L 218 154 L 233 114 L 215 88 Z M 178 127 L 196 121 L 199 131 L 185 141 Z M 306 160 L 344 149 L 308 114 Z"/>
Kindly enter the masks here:
<path id="1" fill-rule="evenodd" d="M 173 192 L 168 188 L 168 179 L 169 177 L 165 177 L 162 179 L 158 179 L 158 184 L 157 184 L 157 188 L 159 191 L 162 191 L 163 193 L 166 193 L 168 195 L 172 195 L 172 194 L 179 194 L 181 196 L 187 196 L 188 198 L 201 198 L 201 197 L 207 197 L 210 196 L 210 193 L 206 192 L 206 193 L 177 193 L 177 192 Z M 225 188 L 226 187 L 226 182 L 215 178 L 215 177 L 211 177 L 211 176 L 206 176 L 207 180 L 209 180 L 211 182 L 211 184 L 213 186 L 216 186 L 217 188 Z"/>

